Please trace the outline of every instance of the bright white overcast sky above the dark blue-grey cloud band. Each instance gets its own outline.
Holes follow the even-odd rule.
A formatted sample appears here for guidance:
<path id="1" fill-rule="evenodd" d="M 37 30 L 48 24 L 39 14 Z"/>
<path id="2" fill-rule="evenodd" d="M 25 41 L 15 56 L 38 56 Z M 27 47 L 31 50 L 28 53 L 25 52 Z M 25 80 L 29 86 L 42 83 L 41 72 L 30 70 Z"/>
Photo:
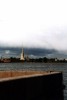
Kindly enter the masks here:
<path id="1" fill-rule="evenodd" d="M 67 53 L 67 0 L 0 0 L 0 46 Z"/>

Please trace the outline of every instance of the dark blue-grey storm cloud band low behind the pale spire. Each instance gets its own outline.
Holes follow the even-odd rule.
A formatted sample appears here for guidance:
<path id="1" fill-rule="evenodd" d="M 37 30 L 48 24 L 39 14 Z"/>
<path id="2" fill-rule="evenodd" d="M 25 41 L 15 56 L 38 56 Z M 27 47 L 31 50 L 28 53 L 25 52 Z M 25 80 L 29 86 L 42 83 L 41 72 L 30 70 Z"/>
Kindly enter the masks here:
<path id="1" fill-rule="evenodd" d="M 43 48 L 23 48 L 25 56 L 29 57 L 48 57 L 48 58 L 67 58 L 65 52 L 57 51 L 54 49 Z M 1 47 L 0 57 L 20 57 L 22 48 Z"/>

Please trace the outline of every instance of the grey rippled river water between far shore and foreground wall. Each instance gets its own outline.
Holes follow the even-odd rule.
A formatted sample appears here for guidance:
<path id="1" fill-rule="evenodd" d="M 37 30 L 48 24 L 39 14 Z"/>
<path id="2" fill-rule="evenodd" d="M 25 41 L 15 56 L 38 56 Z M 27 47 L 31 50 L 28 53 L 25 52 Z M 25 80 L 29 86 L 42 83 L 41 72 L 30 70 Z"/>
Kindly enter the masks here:
<path id="1" fill-rule="evenodd" d="M 41 71 L 62 71 L 64 100 L 67 100 L 67 63 L 0 63 L 0 70 L 41 70 Z"/>

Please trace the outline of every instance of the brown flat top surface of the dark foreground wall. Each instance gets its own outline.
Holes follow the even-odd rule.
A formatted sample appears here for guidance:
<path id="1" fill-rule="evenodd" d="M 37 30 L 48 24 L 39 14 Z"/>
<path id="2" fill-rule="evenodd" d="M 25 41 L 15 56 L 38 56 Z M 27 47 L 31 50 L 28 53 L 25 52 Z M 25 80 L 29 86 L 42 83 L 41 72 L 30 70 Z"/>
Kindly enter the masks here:
<path id="1" fill-rule="evenodd" d="M 56 74 L 60 72 L 56 71 L 0 71 L 0 79 L 3 78 L 16 78 L 19 76 L 22 77 L 29 77 L 29 76 L 35 76 L 35 75 L 49 75 L 49 74 Z"/>

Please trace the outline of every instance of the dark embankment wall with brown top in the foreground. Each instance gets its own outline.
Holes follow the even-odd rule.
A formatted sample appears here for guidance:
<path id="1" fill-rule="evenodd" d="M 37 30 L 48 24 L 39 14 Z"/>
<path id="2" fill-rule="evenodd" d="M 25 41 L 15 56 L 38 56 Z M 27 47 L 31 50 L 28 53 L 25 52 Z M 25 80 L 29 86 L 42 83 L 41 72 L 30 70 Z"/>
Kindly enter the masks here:
<path id="1" fill-rule="evenodd" d="M 3 73 L 1 75 L 3 76 Z M 9 72 L 6 75 L 9 75 Z M 19 77 L 16 72 L 11 72 L 10 75 L 14 77 L 0 80 L 1 100 L 64 100 L 61 72 L 29 71 Z"/>

